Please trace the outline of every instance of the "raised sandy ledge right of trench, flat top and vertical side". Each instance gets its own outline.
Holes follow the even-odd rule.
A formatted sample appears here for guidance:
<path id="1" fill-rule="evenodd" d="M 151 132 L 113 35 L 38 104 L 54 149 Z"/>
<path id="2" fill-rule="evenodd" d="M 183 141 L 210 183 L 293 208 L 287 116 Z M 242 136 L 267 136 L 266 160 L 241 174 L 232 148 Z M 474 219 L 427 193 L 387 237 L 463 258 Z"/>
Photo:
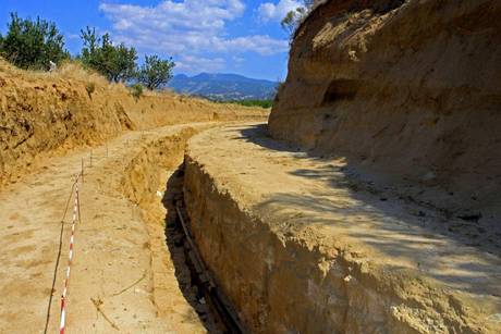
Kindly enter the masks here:
<path id="1" fill-rule="evenodd" d="M 256 333 L 499 333 L 500 231 L 443 217 L 391 184 L 378 188 L 364 171 L 280 144 L 266 125 L 188 141 L 192 231 L 245 324 Z"/>

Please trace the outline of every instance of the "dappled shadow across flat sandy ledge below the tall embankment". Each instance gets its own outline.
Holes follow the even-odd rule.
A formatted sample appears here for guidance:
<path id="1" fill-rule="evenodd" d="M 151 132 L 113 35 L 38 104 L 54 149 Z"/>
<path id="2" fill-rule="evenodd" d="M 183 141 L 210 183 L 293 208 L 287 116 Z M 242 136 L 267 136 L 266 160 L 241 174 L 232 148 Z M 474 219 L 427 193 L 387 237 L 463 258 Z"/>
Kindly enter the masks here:
<path id="1" fill-rule="evenodd" d="M 417 253 L 426 252 L 426 257 L 421 257 L 426 263 L 416 264 L 417 268 L 426 264 L 421 270 L 435 279 L 468 292 L 501 295 L 501 284 L 496 280 L 501 276 L 499 238 L 480 240 L 478 222 L 450 219 L 399 194 L 389 195 L 376 189 L 347 172 L 356 170 L 358 161 L 343 157 L 345 165 L 332 165 L 332 158 L 302 152 L 298 147 L 273 140 L 265 124 L 245 128 L 233 126 L 230 131 L 235 129 L 241 136 L 234 140 L 245 140 L 267 150 L 289 152 L 293 159 L 315 162 L 315 168 L 297 169 L 290 174 L 297 177 L 298 183 L 307 180 L 309 184 L 318 185 L 318 190 L 301 195 L 274 193 L 258 203 L 256 210 L 280 214 L 280 208 L 286 208 L 307 213 L 307 219 L 293 219 L 292 223 L 343 227 L 351 237 L 391 258 L 416 261 Z M 343 196 L 351 205 L 335 200 L 340 193 L 345 194 Z M 337 214 L 330 215 L 329 212 Z M 340 214 L 346 220 L 339 219 Z M 365 221 L 361 224 L 367 224 L 368 228 L 363 225 L 362 228 L 351 228 L 358 224 L 361 215 Z M 334 221 L 332 217 L 338 219 Z M 448 261 L 448 257 L 454 260 Z M 450 269 L 447 273 L 443 273 L 443 263 Z"/>

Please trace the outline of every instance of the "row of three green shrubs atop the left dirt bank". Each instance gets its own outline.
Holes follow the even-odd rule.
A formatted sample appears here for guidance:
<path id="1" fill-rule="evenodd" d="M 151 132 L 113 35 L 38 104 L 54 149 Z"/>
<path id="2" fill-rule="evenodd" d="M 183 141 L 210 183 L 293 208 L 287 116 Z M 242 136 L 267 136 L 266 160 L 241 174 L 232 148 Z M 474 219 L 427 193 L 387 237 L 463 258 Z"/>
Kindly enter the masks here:
<path id="1" fill-rule="evenodd" d="M 95 28 L 86 27 L 80 36 L 83 48 L 74 60 L 110 82 L 140 83 L 152 90 L 172 78 L 175 66 L 172 58 L 145 55 L 139 66 L 136 49 L 123 42 L 114 44 L 108 33 L 99 36 Z M 53 22 L 40 17 L 35 21 L 21 18 L 16 13 L 11 13 L 5 35 L 0 34 L 0 55 L 17 67 L 45 71 L 51 63 L 60 64 L 72 59 L 64 48 L 64 37 Z"/>

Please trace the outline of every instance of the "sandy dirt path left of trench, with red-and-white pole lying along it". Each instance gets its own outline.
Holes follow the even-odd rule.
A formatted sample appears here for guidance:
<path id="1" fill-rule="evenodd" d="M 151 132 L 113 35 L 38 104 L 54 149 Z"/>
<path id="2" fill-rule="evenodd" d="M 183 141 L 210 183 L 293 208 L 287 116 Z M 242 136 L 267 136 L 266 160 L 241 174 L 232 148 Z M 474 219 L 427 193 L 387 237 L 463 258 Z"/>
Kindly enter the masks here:
<path id="1" fill-rule="evenodd" d="M 156 203 L 148 203 L 157 208 L 155 221 L 145 218 L 140 206 L 132 205 L 122 188 L 126 169 L 138 168 L 131 165 L 131 161 L 151 143 L 186 128 L 195 132 L 207 126 L 178 125 L 145 134 L 127 133 L 110 141 L 108 148 L 93 151 L 93 166 L 86 170 L 81 190 L 82 223 L 76 231 L 70 283 L 69 332 L 206 332 L 175 277 L 163 237 L 166 212 L 159 209 L 161 197 Z M 2 333 L 44 332 L 61 219 L 82 158 L 88 165 L 88 151 L 52 159 L 42 172 L 26 176 L 0 193 Z M 167 176 L 163 172 L 162 177 Z M 164 183 L 161 186 L 164 188 Z M 59 327 L 70 220 L 71 208 L 64 220 L 61 263 L 50 310 L 51 333 Z"/>

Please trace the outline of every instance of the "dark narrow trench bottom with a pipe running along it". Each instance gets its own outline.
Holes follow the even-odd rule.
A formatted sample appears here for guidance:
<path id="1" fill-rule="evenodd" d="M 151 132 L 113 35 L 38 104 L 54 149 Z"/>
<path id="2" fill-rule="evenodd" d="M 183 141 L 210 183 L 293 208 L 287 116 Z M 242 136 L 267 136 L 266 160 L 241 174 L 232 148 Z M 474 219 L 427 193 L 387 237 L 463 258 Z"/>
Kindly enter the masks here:
<path id="1" fill-rule="evenodd" d="M 195 245 L 191 245 L 185 224 L 183 197 L 184 163 L 169 177 L 162 203 L 167 209 L 166 240 L 184 298 L 196 310 L 208 333 L 244 333 L 236 312 L 209 277 Z M 178 207 L 178 208 L 176 208 Z M 195 248 L 195 249 L 194 249 Z"/>

